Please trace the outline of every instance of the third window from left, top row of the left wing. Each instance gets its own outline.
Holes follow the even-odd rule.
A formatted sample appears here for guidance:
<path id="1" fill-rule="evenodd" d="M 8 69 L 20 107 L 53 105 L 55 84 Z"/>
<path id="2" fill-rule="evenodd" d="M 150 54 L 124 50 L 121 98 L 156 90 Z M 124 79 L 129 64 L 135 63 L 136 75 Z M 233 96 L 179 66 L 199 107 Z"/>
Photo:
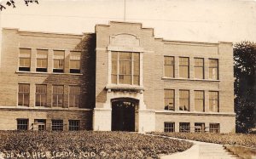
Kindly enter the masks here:
<path id="1" fill-rule="evenodd" d="M 64 51 L 54 51 L 54 69 L 53 72 L 64 72 Z"/>

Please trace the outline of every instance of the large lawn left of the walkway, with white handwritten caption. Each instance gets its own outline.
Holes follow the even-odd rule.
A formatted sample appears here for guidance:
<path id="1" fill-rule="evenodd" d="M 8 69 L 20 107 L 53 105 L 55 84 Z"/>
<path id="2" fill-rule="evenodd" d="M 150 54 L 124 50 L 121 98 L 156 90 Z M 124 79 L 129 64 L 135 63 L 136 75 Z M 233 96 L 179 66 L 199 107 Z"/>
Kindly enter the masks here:
<path id="1" fill-rule="evenodd" d="M 5 157 L 158 158 L 191 146 L 189 142 L 139 133 L 0 131 L 0 153 Z"/>

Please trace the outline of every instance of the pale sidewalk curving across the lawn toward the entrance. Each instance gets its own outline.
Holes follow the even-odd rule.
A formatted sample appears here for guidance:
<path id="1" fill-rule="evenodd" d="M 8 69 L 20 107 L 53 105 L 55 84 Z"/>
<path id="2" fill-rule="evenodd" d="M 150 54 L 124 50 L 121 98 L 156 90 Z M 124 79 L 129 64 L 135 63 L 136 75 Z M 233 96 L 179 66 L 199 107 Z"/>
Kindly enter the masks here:
<path id="1" fill-rule="evenodd" d="M 152 135 L 152 134 L 148 134 Z M 160 136 L 160 135 L 154 135 Z M 166 136 L 160 136 L 169 139 L 178 139 Z M 177 152 L 172 155 L 161 156 L 161 159 L 239 159 L 236 155 L 233 155 L 228 150 L 224 149 L 223 145 L 200 142 L 189 139 L 178 139 L 189 141 L 194 145 L 189 149 L 183 152 Z"/>

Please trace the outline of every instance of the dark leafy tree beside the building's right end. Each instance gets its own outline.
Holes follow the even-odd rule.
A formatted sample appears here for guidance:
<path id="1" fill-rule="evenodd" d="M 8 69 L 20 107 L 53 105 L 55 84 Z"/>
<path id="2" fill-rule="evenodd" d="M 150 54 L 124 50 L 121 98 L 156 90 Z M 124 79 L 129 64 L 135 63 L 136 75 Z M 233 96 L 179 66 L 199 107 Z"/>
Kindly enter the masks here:
<path id="1" fill-rule="evenodd" d="M 256 43 L 234 45 L 236 132 L 249 133 L 256 124 Z"/>

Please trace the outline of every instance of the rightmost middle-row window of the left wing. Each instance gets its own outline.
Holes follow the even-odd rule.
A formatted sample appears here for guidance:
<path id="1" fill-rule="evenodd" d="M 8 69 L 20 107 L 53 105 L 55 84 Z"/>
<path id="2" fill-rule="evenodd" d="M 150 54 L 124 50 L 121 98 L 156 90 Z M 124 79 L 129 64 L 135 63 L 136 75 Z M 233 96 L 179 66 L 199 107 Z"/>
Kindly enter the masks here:
<path id="1" fill-rule="evenodd" d="M 69 107 L 79 107 L 80 105 L 80 87 L 69 87 Z"/>

